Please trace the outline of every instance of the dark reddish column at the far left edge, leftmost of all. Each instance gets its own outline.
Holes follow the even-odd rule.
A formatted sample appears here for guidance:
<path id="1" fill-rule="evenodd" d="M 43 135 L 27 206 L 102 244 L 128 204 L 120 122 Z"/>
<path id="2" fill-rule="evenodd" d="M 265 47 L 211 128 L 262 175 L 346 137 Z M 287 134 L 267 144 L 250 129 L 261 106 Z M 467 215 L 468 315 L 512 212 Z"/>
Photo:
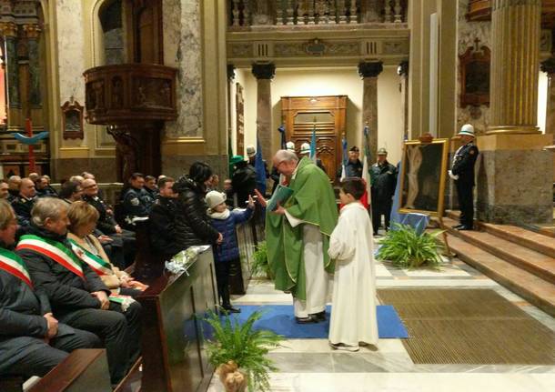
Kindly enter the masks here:
<path id="1" fill-rule="evenodd" d="M 5 37 L 5 74 L 7 81 L 8 128 L 23 126 L 21 95 L 19 92 L 19 64 L 17 62 L 17 25 L 13 22 L 0 24 Z"/>

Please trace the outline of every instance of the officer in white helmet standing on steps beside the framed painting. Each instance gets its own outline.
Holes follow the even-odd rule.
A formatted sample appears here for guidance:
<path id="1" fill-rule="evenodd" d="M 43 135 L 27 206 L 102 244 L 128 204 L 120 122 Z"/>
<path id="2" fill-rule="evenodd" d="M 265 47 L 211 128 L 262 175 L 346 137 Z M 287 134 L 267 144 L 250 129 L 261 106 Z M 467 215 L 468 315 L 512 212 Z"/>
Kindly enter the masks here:
<path id="1" fill-rule="evenodd" d="M 472 230 L 474 226 L 474 164 L 478 157 L 478 147 L 474 146 L 474 126 L 465 124 L 460 128 L 459 147 L 453 158 L 453 166 L 449 176 L 455 180 L 457 195 L 459 196 L 460 224 L 454 228 L 458 230 Z"/>

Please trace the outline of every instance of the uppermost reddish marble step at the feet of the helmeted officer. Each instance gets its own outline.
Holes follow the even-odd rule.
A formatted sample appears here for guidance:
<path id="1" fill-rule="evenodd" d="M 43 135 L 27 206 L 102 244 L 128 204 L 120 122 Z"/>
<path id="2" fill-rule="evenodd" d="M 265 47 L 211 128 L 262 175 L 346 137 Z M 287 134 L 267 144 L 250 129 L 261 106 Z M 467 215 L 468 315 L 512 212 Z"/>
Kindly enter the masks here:
<path id="1" fill-rule="evenodd" d="M 459 223 L 459 211 L 448 210 L 446 215 L 448 218 L 456 220 L 457 224 Z M 446 220 L 447 218 L 444 218 L 444 221 Z M 479 221 L 474 221 L 474 223 L 480 230 L 555 258 L 555 238 L 551 236 L 545 236 L 519 226 L 495 225 Z"/>

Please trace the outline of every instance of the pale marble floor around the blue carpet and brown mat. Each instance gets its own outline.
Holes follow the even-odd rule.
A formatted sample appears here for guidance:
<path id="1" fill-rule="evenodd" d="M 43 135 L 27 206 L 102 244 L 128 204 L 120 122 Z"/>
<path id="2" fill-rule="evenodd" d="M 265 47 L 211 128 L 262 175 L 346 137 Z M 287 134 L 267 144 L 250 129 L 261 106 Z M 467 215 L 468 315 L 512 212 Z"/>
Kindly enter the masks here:
<path id="1" fill-rule="evenodd" d="M 439 270 L 378 263 L 377 285 L 491 288 L 555 332 L 554 318 L 456 258 L 445 260 Z M 262 280 L 252 281 L 247 294 L 233 302 L 291 304 L 292 299 Z M 357 353 L 332 350 L 327 339 L 288 339 L 270 357 L 279 369 L 271 375 L 272 391 L 555 391 L 555 366 L 415 365 L 400 339 L 379 339 L 378 350 L 361 347 Z M 223 391 L 216 377 L 208 390 Z"/>

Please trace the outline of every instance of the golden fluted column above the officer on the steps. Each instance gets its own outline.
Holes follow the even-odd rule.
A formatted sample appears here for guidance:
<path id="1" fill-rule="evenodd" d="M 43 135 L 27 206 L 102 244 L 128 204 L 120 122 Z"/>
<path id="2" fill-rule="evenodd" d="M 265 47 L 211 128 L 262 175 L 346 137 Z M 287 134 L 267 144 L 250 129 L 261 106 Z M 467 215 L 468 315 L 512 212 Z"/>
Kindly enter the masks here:
<path id="1" fill-rule="evenodd" d="M 539 133 L 541 0 L 491 5 L 491 115 L 487 134 Z"/>

